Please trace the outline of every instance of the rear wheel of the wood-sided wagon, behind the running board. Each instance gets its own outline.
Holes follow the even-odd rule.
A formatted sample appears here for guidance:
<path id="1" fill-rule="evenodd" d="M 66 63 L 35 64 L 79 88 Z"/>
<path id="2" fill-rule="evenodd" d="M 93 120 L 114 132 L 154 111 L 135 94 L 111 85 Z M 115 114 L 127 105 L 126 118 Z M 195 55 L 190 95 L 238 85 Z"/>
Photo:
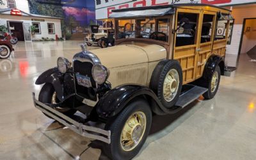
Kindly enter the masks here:
<path id="1" fill-rule="evenodd" d="M 208 91 L 203 94 L 205 99 L 212 99 L 219 88 L 220 85 L 220 67 L 217 66 L 212 73 L 211 79 L 204 79 L 207 83 L 205 83 L 205 88 L 208 88 Z"/>

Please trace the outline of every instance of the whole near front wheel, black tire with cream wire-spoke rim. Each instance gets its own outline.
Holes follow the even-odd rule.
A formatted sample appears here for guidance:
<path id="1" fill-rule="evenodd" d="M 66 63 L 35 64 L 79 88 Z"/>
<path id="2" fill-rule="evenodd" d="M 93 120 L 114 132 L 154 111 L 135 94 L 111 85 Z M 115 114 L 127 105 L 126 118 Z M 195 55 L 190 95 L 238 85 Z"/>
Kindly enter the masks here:
<path id="1" fill-rule="evenodd" d="M 104 151 L 111 159 L 132 159 L 140 152 L 147 139 L 152 122 L 152 112 L 145 100 L 136 100 L 114 119 L 105 129 L 111 131 L 111 143 Z"/>

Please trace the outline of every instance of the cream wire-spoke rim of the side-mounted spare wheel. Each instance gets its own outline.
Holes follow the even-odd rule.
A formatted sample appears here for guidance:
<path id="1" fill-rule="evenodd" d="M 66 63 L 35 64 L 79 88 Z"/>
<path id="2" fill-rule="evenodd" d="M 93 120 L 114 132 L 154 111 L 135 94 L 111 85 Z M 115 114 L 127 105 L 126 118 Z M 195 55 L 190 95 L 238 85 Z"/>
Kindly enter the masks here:
<path id="1" fill-rule="evenodd" d="M 177 95 L 179 81 L 179 74 L 177 70 L 172 69 L 168 72 L 168 74 L 166 74 L 166 77 L 164 78 L 163 94 L 164 99 L 167 102 L 172 101 Z"/>

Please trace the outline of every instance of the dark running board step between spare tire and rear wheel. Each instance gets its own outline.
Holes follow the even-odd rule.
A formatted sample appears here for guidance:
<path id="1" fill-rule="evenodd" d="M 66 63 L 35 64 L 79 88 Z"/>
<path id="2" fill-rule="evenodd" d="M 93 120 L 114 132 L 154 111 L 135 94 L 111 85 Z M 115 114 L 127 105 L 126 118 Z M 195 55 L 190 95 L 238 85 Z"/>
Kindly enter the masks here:
<path id="1" fill-rule="evenodd" d="M 186 107 L 189 103 L 193 102 L 194 100 L 198 99 L 202 94 L 207 92 L 207 88 L 203 88 L 200 86 L 193 86 L 188 91 L 182 93 L 180 95 L 178 102 L 175 104 L 175 106 L 179 107 Z"/>

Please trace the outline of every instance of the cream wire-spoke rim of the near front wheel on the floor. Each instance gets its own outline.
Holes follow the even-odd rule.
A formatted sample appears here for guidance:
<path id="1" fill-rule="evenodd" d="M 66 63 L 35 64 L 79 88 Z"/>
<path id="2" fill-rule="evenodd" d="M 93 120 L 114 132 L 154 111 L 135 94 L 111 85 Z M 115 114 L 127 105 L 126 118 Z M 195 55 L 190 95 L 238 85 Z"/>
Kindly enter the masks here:
<path id="1" fill-rule="evenodd" d="M 143 138 L 147 124 L 145 113 L 133 113 L 125 122 L 120 137 L 121 147 L 125 151 L 133 150 Z"/>

